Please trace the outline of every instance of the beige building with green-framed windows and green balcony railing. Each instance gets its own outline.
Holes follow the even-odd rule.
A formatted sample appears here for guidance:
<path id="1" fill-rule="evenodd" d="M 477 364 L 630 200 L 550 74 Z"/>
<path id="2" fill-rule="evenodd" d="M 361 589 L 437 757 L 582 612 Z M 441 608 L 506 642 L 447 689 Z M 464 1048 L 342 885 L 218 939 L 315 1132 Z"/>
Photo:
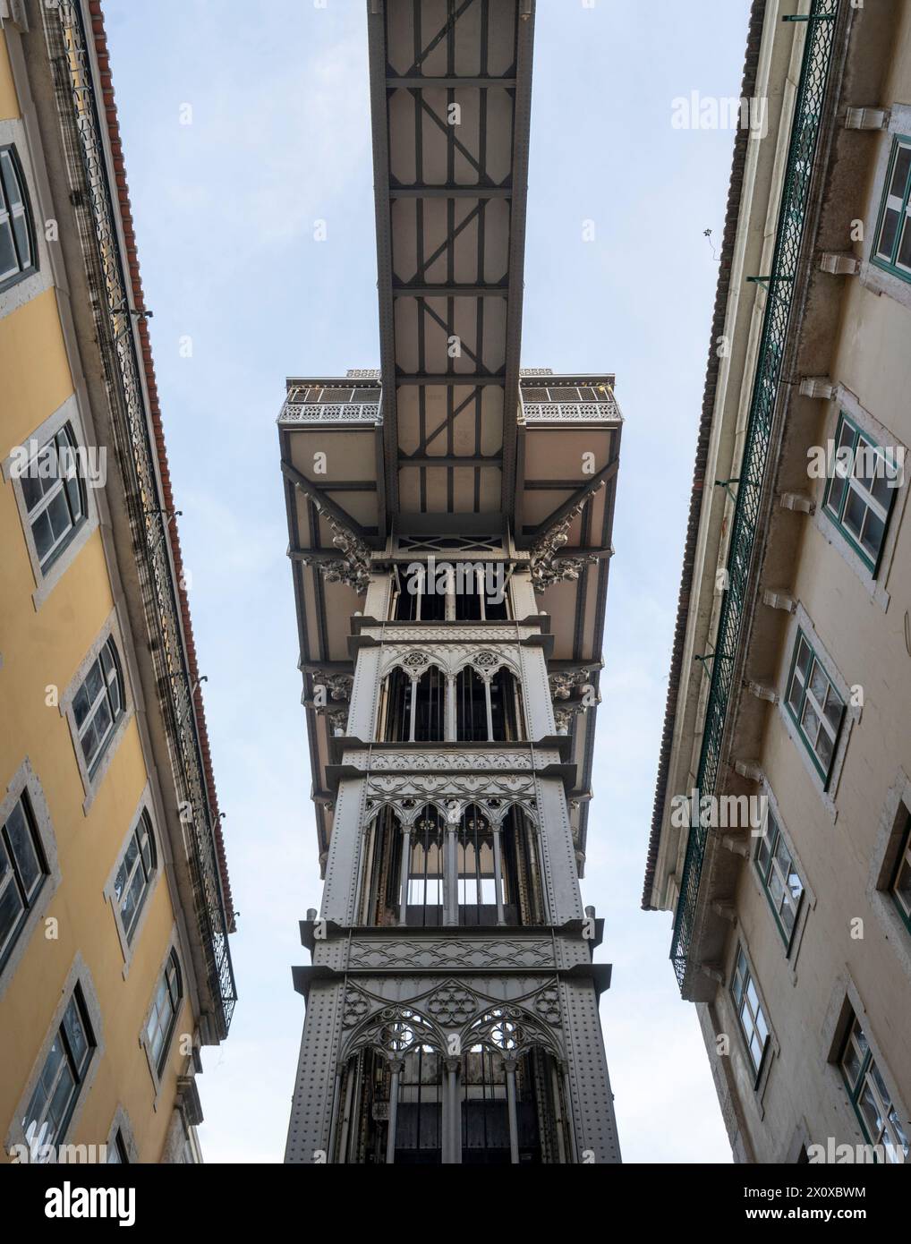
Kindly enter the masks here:
<path id="1" fill-rule="evenodd" d="M 743 95 L 643 907 L 734 1158 L 897 1163 L 911 6 L 757 0 Z"/>

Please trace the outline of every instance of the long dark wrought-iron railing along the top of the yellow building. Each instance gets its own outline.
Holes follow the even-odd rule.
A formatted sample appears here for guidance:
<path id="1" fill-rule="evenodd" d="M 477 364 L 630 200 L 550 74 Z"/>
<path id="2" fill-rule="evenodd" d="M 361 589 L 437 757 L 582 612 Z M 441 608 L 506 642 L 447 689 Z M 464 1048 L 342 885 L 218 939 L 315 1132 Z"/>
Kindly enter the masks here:
<path id="1" fill-rule="evenodd" d="M 134 531 L 149 649 L 168 726 L 195 916 L 205 949 L 212 1000 L 217 1008 L 217 1028 L 220 1036 L 227 1036 L 236 989 L 228 947 L 228 916 L 217 860 L 214 816 L 195 715 L 195 687 L 190 679 L 169 551 L 167 524 L 172 515 L 164 509 L 157 454 L 149 433 L 142 367 L 132 325 L 132 316 L 137 312 L 132 309 L 132 286 L 123 269 L 88 36 L 82 7 L 76 0 L 58 0 L 54 6 L 45 6 L 42 12 L 70 175 L 77 183 L 73 204 Z"/>

